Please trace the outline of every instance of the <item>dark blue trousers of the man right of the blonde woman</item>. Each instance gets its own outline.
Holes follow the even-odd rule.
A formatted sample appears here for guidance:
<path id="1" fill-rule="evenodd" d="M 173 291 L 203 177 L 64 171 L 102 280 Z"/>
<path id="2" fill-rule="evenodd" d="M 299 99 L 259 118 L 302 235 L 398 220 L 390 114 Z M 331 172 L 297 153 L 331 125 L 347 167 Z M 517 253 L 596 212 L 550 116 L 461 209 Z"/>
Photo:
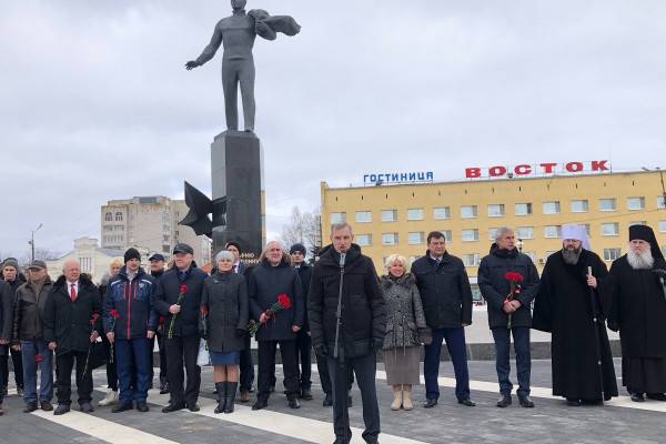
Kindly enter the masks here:
<path id="1" fill-rule="evenodd" d="M 455 396 L 462 400 L 470 398 L 470 372 L 467 371 L 467 346 L 465 344 L 465 329 L 462 326 L 450 329 L 433 329 L 433 342 L 425 346 L 423 360 L 423 376 L 425 377 L 425 397 L 440 398 L 440 353 L 442 340 L 446 341 L 446 349 L 453 362 L 455 372 Z"/>

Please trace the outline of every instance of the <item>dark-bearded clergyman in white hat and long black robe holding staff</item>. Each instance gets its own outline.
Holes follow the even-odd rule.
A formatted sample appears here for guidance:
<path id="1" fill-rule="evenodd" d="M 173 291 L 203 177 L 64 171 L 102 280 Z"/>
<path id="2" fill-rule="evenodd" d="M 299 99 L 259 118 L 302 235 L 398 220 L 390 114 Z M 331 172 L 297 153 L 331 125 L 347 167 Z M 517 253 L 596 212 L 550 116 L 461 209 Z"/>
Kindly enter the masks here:
<path id="1" fill-rule="evenodd" d="M 585 226 L 564 225 L 562 238 L 563 249 L 544 268 L 532 326 L 553 336 L 553 394 L 572 406 L 601 404 L 617 396 L 605 304 L 597 291 L 608 271 L 589 251 Z"/>

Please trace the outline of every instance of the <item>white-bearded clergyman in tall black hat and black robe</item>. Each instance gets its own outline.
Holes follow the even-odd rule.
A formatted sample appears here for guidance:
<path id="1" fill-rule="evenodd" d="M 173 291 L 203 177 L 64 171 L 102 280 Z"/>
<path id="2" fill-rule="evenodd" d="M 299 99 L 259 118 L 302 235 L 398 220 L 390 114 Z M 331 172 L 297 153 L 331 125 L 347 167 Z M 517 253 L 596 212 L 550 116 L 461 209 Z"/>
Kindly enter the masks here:
<path id="1" fill-rule="evenodd" d="M 622 384 L 632 401 L 666 401 L 666 261 L 647 225 L 629 226 L 627 253 L 610 266 L 608 327 L 619 331 Z"/>

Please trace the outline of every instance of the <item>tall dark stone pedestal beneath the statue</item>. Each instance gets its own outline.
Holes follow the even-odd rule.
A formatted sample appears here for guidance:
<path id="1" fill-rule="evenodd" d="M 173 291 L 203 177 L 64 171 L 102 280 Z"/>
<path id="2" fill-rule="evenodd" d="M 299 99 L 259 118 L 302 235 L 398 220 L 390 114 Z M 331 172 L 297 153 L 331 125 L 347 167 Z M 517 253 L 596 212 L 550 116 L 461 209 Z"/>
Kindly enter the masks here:
<path id="1" fill-rule="evenodd" d="M 259 258 L 265 239 L 263 153 L 251 132 L 224 131 L 211 144 L 213 251 L 241 244 L 244 259 Z"/>

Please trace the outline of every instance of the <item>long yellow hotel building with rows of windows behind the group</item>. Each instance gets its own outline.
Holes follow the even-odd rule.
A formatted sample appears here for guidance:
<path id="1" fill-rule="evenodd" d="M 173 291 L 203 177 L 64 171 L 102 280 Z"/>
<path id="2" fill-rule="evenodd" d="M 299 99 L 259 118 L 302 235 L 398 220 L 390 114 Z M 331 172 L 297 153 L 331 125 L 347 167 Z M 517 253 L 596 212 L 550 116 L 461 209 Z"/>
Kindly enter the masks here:
<path id="1" fill-rule="evenodd" d="M 413 260 L 426 251 L 430 231 L 444 233 L 447 250 L 463 260 L 473 283 L 495 230 L 514 229 L 518 246 L 539 272 L 562 248 L 559 228 L 587 226 L 593 250 L 609 265 L 626 251 L 628 226 L 647 223 L 666 250 L 666 209 L 659 171 L 549 175 L 460 182 L 321 184 L 322 233 L 346 221 L 355 242 L 379 273 L 383 260 L 400 253 Z"/>

